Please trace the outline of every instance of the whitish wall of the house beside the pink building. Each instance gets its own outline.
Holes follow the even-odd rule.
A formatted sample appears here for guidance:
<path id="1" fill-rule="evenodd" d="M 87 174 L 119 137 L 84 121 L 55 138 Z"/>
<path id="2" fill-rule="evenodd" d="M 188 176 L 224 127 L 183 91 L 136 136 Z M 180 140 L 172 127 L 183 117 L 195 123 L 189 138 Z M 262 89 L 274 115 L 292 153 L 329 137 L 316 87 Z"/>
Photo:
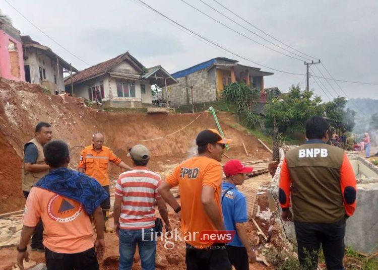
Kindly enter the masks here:
<path id="1" fill-rule="evenodd" d="M 24 65 L 29 65 L 30 68 L 30 80 L 32 84 L 44 85 L 52 91 L 57 89 L 64 91 L 63 68 L 59 65 L 57 72 L 56 59 L 51 59 L 49 56 L 43 54 L 42 50 L 32 47 L 26 48 L 24 58 Z M 46 79 L 42 80 L 42 82 L 40 80 L 39 67 L 42 67 L 46 74 Z M 54 76 L 56 76 L 56 84 Z M 47 82 L 44 83 L 43 81 Z"/>

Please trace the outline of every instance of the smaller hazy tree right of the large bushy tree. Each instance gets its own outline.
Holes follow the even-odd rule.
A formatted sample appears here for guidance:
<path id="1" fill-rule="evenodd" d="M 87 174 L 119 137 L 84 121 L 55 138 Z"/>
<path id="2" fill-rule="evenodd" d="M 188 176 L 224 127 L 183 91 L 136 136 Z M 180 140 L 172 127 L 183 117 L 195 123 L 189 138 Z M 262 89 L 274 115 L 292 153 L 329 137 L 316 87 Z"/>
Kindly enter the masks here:
<path id="1" fill-rule="evenodd" d="M 338 96 L 334 100 L 325 103 L 326 117 L 329 118 L 330 125 L 338 130 L 352 131 L 355 122 L 356 112 L 345 106 L 345 97 Z"/>

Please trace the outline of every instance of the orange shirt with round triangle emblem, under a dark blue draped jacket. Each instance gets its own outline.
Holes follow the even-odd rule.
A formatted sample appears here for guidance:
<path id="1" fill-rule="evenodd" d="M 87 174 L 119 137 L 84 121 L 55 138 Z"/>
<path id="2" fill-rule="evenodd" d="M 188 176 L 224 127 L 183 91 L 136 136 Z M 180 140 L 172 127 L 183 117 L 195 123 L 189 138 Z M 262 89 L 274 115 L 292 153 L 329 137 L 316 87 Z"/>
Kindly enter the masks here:
<path id="1" fill-rule="evenodd" d="M 93 227 L 78 201 L 32 187 L 26 200 L 23 225 L 43 223 L 43 244 L 58 253 L 79 253 L 92 248 Z"/>

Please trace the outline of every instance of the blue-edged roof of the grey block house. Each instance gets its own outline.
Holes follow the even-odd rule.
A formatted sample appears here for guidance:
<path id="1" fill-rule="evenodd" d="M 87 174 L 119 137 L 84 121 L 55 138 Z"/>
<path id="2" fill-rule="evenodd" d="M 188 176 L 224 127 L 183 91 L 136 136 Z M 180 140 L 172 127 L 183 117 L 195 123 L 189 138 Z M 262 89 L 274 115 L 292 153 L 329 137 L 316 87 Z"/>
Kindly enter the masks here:
<path id="1" fill-rule="evenodd" d="M 219 61 L 226 61 L 226 62 L 229 62 L 229 63 L 222 63 L 222 62 L 219 62 Z M 189 74 L 195 73 L 195 72 L 200 71 L 200 70 L 204 70 L 204 69 L 210 70 L 215 65 L 217 65 L 217 66 L 221 66 L 221 65 L 231 66 L 232 65 L 232 66 L 245 67 L 247 69 L 259 71 L 259 75 L 256 75 L 256 76 L 273 75 L 273 73 L 260 71 L 261 69 L 259 67 L 241 65 L 241 64 L 238 64 L 238 62 L 239 62 L 238 60 L 234 60 L 234 59 L 230 59 L 230 58 L 226 58 L 226 57 L 216 57 L 216 58 L 212 58 L 210 60 L 207 60 L 205 62 L 196 64 L 194 66 L 188 67 L 187 69 L 175 72 L 175 73 L 172 74 L 172 76 L 174 78 L 181 78 L 181 77 L 187 76 Z"/>

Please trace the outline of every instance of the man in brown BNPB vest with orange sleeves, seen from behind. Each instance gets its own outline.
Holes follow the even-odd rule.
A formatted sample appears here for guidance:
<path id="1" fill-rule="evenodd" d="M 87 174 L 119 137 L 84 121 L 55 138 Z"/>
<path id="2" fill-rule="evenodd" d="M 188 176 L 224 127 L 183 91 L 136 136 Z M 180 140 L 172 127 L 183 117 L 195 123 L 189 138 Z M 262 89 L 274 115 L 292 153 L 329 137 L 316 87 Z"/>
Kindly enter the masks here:
<path id="1" fill-rule="evenodd" d="M 286 153 L 280 175 L 282 220 L 294 220 L 299 262 L 306 269 L 317 269 L 321 244 L 327 269 L 344 269 L 345 225 L 356 209 L 353 168 L 343 149 L 326 144 L 328 129 L 323 117 L 309 118 L 308 141 Z"/>

